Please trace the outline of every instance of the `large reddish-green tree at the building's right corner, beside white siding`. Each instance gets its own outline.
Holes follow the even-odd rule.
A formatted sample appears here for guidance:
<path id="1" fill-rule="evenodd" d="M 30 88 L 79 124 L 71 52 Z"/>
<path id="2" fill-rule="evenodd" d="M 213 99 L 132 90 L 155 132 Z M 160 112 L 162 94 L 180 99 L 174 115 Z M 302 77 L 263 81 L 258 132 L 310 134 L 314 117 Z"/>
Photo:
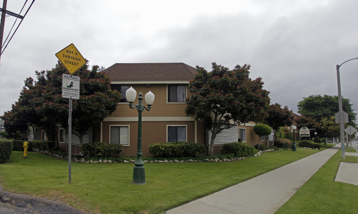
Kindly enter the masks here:
<path id="1" fill-rule="evenodd" d="M 263 90 L 261 78 L 249 78 L 250 65 L 234 69 L 212 63 L 212 71 L 197 66 L 194 80 L 189 82 L 190 97 L 185 113 L 203 121 L 212 133 L 208 154 L 212 155 L 214 140 L 224 129 L 266 117 L 269 91 Z"/>

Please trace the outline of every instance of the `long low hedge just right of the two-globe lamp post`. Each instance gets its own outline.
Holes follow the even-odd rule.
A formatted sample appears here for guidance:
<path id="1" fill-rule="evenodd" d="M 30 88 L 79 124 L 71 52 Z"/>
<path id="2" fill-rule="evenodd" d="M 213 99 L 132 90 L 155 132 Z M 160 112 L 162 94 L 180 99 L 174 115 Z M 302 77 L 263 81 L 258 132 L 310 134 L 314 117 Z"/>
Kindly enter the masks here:
<path id="1" fill-rule="evenodd" d="M 159 142 L 148 146 L 155 157 L 192 157 L 206 153 L 203 144 L 193 142 Z"/>

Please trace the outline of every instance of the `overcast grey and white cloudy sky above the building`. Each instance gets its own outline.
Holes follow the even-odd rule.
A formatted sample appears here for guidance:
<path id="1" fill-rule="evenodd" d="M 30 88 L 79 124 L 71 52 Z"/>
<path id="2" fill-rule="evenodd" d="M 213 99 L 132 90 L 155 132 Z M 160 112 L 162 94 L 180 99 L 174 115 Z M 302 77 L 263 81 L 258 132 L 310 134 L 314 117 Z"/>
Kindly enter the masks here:
<path id="1" fill-rule="evenodd" d="M 19 13 L 24 3 L 8 1 L 7 10 Z M 336 65 L 358 57 L 357 8 L 356 0 L 36 0 L 1 55 L 0 114 L 26 77 L 53 68 L 55 53 L 71 43 L 89 65 L 106 68 L 183 62 L 211 71 L 212 62 L 247 63 L 271 103 L 296 113 L 304 97 L 338 95 Z M 14 21 L 6 18 L 4 40 Z M 357 69 L 358 60 L 340 67 L 342 95 L 354 109 Z"/>

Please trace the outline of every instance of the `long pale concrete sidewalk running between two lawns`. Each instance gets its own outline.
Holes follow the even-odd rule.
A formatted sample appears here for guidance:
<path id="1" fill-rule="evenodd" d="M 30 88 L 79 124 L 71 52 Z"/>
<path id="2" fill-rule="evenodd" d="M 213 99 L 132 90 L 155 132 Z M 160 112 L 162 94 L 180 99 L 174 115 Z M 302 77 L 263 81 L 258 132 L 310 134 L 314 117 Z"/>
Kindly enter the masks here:
<path id="1" fill-rule="evenodd" d="M 275 213 L 339 149 L 340 144 L 337 144 L 276 170 L 168 210 L 166 214 Z"/>

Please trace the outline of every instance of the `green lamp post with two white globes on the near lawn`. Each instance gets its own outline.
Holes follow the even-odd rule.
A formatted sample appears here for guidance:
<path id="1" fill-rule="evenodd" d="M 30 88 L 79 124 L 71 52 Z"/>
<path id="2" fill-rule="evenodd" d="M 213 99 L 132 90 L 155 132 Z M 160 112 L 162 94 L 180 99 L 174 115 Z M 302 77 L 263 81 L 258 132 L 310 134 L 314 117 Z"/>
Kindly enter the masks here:
<path id="1" fill-rule="evenodd" d="M 137 96 L 137 92 L 132 87 L 127 89 L 126 98 L 129 102 L 129 108 L 131 109 L 136 108 L 138 110 L 137 159 L 134 163 L 132 184 L 142 185 L 142 184 L 146 184 L 144 163 L 142 161 L 142 112 L 144 109 L 147 111 L 151 109 L 151 105 L 154 102 L 154 94 L 149 91 L 144 96 L 148 108 L 145 107 L 142 103 L 143 101 L 142 92 L 139 93 L 138 104 L 133 106 L 132 103 L 134 102 L 136 96 Z"/>

